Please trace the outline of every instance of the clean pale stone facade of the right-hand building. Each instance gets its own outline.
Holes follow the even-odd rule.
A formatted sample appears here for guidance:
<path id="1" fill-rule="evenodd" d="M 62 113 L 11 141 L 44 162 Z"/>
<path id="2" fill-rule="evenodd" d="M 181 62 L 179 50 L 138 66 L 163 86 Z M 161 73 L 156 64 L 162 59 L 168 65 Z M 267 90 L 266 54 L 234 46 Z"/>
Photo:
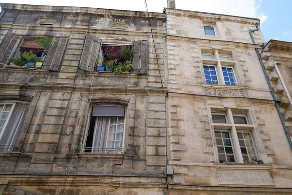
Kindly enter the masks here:
<path id="1" fill-rule="evenodd" d="M 249 34 L 259 20 L 172 8 L 164 12 L 167 159 L 174 171 L 168 193 L 292 194 L 292 151 L 255 51 L 262 51 L 265 40 L 260 30 L 255 31 L 253 44 Z M 208 26 L 213 35 L 205 35 Z M 217 73 L 213 84 L 206 84 L 211 79 L 204 70 L 208 66 Z M 233 70 L 236 85 L 227 84 L 222 68 Z M 236 114 L 245 115 L 247 124 L 237 125 Z M 212 122 L 212 115 L 226 116 L 227 124 Z M 237 163 L 219 163 L 220 132 L 229 132 Z M 252 136 L 256 157 L 263 164 L 243 163 L 242 140 L 240 146 L 237 143 L 242 132 Z"/>

